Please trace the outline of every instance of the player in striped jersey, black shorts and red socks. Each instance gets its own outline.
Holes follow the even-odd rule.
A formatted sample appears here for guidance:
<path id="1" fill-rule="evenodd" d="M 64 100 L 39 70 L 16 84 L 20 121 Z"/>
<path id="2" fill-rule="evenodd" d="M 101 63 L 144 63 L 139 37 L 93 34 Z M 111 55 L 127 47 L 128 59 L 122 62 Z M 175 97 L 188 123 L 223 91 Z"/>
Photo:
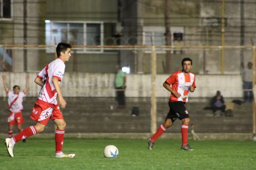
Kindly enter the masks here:
<path id="1" fill-rule="evenodd" d="M 156 133 L 148 138 L 148 148 L 151 150 L 156 139 L 163 134 L 163 132 L 172 126 L 174 121 L 178 118 L 182 120 L 181 135 L 182 145 L 181 149 L 193 150 L 187 143 L 188 125 L 190 122 L 188 111 L 185 103 L 188 102 L 188 93 L 194 92 L 196 88 L 195 75 L 190 72 L 192 68 L 192 60 L 190 58 L 183 58 L 182 70 L 174 72 L 163 83 L 164 88 L 171 92 L 169 99 L 170 111 L 166 116 L 165 123 L 163 123 L 156 131 Z"/>

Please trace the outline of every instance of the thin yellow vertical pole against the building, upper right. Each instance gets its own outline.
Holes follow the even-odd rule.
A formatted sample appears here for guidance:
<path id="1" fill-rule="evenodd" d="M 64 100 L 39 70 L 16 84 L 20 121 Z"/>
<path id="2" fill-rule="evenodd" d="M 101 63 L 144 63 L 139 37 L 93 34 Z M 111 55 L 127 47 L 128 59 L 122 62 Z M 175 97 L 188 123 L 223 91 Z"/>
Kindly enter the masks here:
<path id="1" fill-rule="evenodd" d="M 225 33 L 225 0 L 222 0 L 221 9 L 221 74 L 224 74 L 224 33 Z"/>

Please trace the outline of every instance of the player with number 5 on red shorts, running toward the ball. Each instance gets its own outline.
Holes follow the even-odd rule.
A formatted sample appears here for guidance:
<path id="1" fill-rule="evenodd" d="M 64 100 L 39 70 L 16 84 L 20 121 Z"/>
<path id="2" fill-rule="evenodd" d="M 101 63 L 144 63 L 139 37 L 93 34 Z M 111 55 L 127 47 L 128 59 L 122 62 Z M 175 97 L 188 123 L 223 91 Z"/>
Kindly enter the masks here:
<path id="1" fill-rule="evenodd" d="M 64 154 L 62 152 L 66 122 L 64 121 L 59 108 L 59 106 L 65 108 L 67 104 L 62 96 L 59 83 L 62 81 L 64 75 L 65 62 L 69 61 L 71 57 L 70 48 L 70 44 L 60 42 L 56 47 L 58 58 L 50 64 L 47 64 L 37 75 L 35 83 L 42 88 L 33 107 L 33 111 L 30 114 L 30 118 L 37 123 L 35 126 L 25 128 L 16 136 L 4 140 L 8 154 L 11 157 L 13 157 L 14 144 L 21 139 L 43 131 L 49 119 L 51 119 L 57 126 L 55 131 L 55 156 L 58 158 L 75 156 L 75 154 Z M 57 102 L 57 97 L 59 98 L 59 103 Z"/>

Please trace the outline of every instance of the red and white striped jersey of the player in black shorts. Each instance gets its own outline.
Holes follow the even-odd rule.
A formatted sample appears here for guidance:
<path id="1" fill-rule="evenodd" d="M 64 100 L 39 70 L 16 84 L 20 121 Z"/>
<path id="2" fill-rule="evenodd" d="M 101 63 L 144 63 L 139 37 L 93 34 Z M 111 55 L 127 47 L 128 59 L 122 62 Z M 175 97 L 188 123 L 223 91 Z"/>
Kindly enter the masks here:
<path id="1" fill-rule="evenodd" d="M 166 82 L 169 85 L 172 85 L 172 89 L 180 93 L 181 96 L 177 98 L 173 93 L 171 93 L 169 101 L 188 102 L 188 93 L 190 87 L 196 87 L 195 80 L 195 74 L 191 72 L 188 75 L 184 74 L 182 70 L 174 72 L 170 77 L 166 79 Z"/>

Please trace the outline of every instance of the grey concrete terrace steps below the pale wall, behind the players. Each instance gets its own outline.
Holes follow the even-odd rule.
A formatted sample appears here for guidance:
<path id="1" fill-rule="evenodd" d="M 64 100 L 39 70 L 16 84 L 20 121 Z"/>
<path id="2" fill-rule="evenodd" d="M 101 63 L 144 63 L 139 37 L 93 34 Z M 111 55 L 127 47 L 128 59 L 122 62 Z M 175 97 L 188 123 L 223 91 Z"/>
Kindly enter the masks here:
<path id="1" fill-rule="evenodd" d="M 23 128 L 34 125 L 29 118 L 36 98 L 24 98 Z M 150 98 L 127 98 L 127 108 L 117 109 L 114 98 L 66 98 L 66 109 L 62 109 L 67 123 L 66 133 L 124 133 L 150 132 Z M 0 133 L 7 133 L 8 104 L 6 98 L 0 98 Z M 110 110 L 113 106 L 113 110 Z M 132 107 L 137 106 L 140 115 L 131 116 Z M 212 111 L 203 110 L 208 106 L 207 100 L 192 100 L 186 104 L 191 123 L 199 124 L 195 131 L 199 133 L 250 133 L 252 132 L 252 104 L 235 105 L 233 117 L 213 117 Z M 157 99 L 157 127 L 164 122 L 169 112 L 168 98 Z M 166 132 L 179 133 L 182 122 L 176 120 Z M 189 128 L 191 129 L 191 128 Z M 49 121 L 42 133 L 54 131 L 54 124 Z M 14 132 L 17 132 L 14 129 Z"/>

